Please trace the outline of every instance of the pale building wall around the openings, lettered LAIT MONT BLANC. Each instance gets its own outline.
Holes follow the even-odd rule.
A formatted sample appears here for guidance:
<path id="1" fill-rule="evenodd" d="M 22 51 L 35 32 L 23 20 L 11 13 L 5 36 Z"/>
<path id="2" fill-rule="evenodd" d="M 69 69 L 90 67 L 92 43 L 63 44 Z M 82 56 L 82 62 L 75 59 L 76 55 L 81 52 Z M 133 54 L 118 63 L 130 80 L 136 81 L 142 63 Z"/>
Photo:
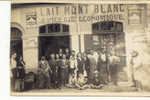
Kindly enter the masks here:
<path id="1" fill-rule="evenodd" d="M 83 4 L 83 11 L 76 8 L 79 5 L 73 4 L 45 4 L 45 5 L 21 5 L 12 8 L 11 22 L 18 23 L 23 31 L 23 57 L 28 69 L 36 69 L 38 66 L 38 37 L 39 26 L 50 23 L 63 23 L 70 26 L 71 48 L 83 52 L 85 50 L 84 34 L 92 34 L 92 24 L 104 21 L 103 18 L 90 20 L 90 16 L 112 15 L 114 21 L 123 23 L 126 40 L 127 67 L 124 69 L 131 80 L 130 55 L 131 51 L 139 52 L 139 63 L 143 61 L 149 52 L 150 44 L 150 5 L 119 5 L 118 11 L 109 9 L 109 5 Z M 87 8 L 88 6 L 88 8 Z M 110 5 L 111 6 L 111 5 Z M 59 7 L 59 14 L 57 9 Z M 64 9 L 66 7 L 66 9 Z M 96 8 L 97 7 L 97 8 Z M 88 9 L 88 10 L 87 10 Z M 93 10 L 96 9 L 96 10 Z M 99 10 L 98 10 L 99 9 Z M 95 11 L 95 12 L 92 12 Z M 64 12 L 67 14 L 64 15 Z M 79 13 L 80 12 L 80 13 Z M 27 20 L 27 17 L 34 16 L 35 20 Z M 64 16 L 64 17 L 63 17 Z M 60 22 L 60 18 L 63 21 Z M 88 19 L 89 18 L 89 19 Z M 12 24 L 13 25 L 13 24 Z M 19 27 L 20 28 L 20 27 Z M 79 36 L 80 35 L 80 36 Z M 81 44 L 79 45 L 79 38 Z M 146 52 L 145 52 L 146 51 Z M 145 59 L 147 60 L 147 59 Z M 146 62 L 146 61 L 145 61 Z M 147 62 L 146 62 L 147 63 Z"/>

